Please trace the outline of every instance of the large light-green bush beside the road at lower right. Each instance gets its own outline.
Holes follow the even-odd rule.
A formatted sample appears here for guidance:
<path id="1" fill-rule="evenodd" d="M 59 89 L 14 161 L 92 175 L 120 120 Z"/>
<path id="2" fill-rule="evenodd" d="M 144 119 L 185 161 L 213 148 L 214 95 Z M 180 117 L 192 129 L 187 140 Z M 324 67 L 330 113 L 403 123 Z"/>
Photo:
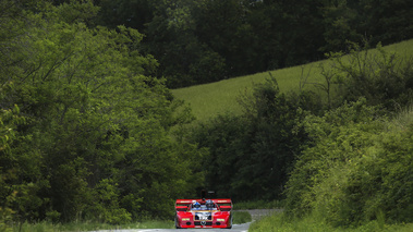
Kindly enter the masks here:
<path id="1" fill-rule="evenodd" d="M 413 221 L 413 124 L 388 131 L 375 115 L 361 100 L 305 120 L 314 146 L 288 182 L 288 215 L 333 227 Z"/>

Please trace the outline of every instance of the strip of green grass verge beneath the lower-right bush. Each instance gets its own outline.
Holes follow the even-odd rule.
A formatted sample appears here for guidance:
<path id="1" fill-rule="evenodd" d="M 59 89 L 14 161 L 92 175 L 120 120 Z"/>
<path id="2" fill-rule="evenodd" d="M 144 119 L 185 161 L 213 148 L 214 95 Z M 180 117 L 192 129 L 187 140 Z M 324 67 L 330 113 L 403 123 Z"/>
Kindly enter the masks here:
<path id="1" fill-rule="evenodd" d="M 413 231 L 413 223 L 385 224 L 371 221 L 355 228 L 333 228 L 317 218 L 288 220 L 283 213 L 277 213 L 253 222 L 250 232 L 408 232 Z"/>

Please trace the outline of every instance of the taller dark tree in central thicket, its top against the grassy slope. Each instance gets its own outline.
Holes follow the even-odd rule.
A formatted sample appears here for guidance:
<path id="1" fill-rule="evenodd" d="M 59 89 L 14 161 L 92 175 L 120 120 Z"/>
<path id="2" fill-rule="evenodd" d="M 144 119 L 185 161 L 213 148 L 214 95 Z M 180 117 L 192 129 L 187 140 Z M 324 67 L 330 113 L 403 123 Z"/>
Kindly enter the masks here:
<path id="1" fill-rule="evenodd" d="M 280 198 L 288 173 L 304 145 L 305 134 L 299 122 L 305 111 L 280 93 L 274 77 L 256 85 L 253 96 L 241 101 L 248 121 L 250 144 L 239 163 L 234 186 L 250 193 L 250 197 Z"/>

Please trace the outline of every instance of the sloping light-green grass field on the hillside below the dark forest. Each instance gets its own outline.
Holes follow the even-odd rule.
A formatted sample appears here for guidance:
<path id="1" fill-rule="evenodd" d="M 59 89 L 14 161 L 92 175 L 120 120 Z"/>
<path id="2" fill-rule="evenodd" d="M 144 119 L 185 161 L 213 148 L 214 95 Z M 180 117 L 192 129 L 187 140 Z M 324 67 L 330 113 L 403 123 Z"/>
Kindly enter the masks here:
<path id="1" fill-rule="evenodd" d="M 397 52 L 401 57 L 413 54 L 413 39 L 385 47 L 386 51 Z M 345 59 L 345 57 L 344 57 Z M 207 120 L 219 113 L 240 113 L 238 97 L 245 90 L 252 93 L 254 83 L 263 83 L 270 76 L 277 78 L 281 91 L 299 90 L 300 81 L 308 76 L 308 82 L 321 83 L 319 65 L 328 66 L 328 60 L 307 63 L 300 66 L 286 68 L 253 75 L 240 76 L 216 83 L 196 85 L 186 88 L 173 89 L 172 94 L 187 102 L 198 120 Z M 305 85 L 304 89 L 314 88 Z"/>

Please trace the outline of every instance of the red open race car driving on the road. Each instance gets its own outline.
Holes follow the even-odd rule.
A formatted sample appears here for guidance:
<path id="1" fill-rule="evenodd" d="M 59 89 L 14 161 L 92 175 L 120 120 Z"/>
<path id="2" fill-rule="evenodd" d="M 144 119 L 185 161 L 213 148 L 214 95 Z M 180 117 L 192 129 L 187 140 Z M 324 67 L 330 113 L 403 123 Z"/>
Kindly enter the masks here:
<path id="1" fill-rule="evenodd" d="M 232 228 L 231 199 L 177 199 L 175 228 Z"/>

